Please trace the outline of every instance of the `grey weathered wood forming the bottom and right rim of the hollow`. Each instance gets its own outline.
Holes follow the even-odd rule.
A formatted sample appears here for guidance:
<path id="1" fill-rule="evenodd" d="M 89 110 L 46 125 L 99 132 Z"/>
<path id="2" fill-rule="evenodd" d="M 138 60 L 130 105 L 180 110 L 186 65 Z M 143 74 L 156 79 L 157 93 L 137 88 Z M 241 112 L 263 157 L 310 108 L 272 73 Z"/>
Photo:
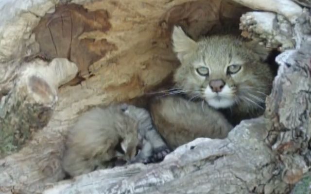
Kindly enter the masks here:
<path id="1" fill-rule="evenodd" d="M 224 140 L 197 139 L 139 173 L 137 166 L 129 166 L 125 178 L 113 176 L 121 168 L 116 174 L 97 171 L 60 182 L 45 194 L 289 193 L 310 162 L 311 41 L 306 34 L 304 40 L 277 58 L 280 68 L 265 118 L 243 121 Z M 99 179 L 101 184 L 88 186 Z"/>

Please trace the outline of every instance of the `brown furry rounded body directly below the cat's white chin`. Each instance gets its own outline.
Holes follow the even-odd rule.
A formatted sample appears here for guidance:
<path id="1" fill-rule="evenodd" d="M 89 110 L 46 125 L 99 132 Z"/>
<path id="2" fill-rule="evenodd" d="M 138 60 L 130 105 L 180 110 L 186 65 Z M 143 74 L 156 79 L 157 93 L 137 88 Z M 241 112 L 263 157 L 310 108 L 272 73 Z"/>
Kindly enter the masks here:
<path id="1" fill-rule="evenodd" d="M 182 97 L 154 99 L 150 108 L 155 126 L 172 148 L 198 137 L 225 138 L 232 129 L 221 113 Z"/>

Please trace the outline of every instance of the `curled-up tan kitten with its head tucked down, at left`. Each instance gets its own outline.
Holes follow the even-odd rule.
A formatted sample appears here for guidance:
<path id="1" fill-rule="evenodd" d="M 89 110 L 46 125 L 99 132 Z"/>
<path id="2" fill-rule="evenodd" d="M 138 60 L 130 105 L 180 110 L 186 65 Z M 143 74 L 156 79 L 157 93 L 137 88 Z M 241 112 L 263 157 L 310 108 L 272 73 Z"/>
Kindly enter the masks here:
<path id="1" fill-rule="evenodd" d="M 62 165 L 74 177 L 113 167 L 116 158 L 128 163 L 161 160 L 168 151 L 158 138 L 144 109 L 127 104 L 93 108 L 69 130 Z"/>

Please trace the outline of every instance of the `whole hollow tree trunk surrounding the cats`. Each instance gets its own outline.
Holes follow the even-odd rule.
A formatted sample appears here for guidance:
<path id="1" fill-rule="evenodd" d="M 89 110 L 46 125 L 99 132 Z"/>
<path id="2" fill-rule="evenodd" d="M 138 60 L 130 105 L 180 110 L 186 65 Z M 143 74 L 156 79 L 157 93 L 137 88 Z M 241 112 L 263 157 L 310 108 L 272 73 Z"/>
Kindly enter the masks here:
<path id="1" fill-rule="evenodd" d="M 289 193 L 311 161 L 311 26 L 300 7 L 310 2 L 234 1 L 0 2 L 0 193 Z M 240 17 L 243 36 L 282 51 L 263 116 L 157 164 L 61 181 L 65 135 L 80 113 L 170 84 L 173 25 L 196 39 Z"/>

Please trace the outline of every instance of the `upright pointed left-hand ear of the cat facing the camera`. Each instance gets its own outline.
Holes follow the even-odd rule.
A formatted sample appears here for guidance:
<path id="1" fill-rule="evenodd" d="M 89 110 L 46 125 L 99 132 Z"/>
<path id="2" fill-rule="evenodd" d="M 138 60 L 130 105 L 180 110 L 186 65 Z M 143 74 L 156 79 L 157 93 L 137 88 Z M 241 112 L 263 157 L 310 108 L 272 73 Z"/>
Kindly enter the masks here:
<path id="1" fill-rule="evenodd" d="M 172 40 L 173 50 L 180 61 L 183 61 L 187 54 L 198 48 L 198 44 L 187 36 L 180 26 L 174 26 Z"/>

